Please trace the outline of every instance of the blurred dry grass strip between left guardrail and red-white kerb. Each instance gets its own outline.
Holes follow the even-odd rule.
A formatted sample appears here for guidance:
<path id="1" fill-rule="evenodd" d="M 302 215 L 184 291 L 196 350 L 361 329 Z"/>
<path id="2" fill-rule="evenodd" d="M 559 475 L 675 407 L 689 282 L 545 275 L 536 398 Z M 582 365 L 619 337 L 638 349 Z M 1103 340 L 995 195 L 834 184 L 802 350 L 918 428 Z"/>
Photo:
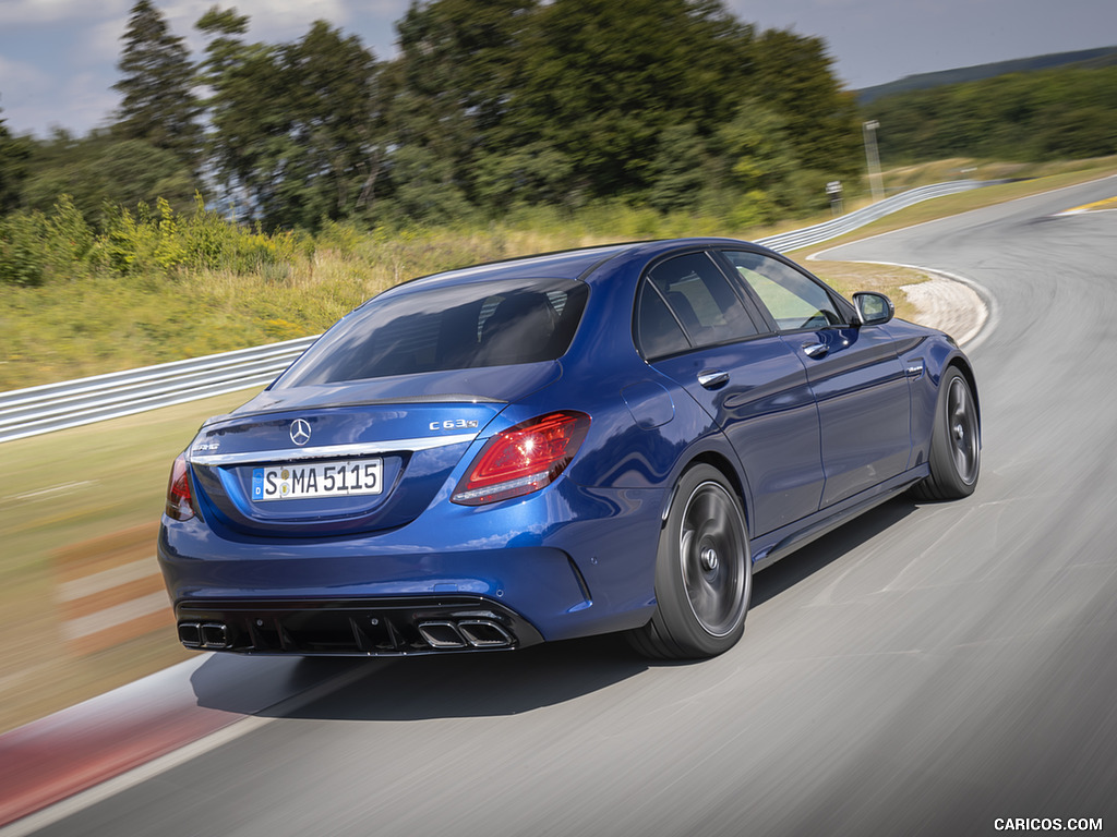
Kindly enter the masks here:
<path id="1" fill-rule="evenodd" d="M 0 731 L 184 660 L 172 631 L 92 654 L 67 642 L 64 547 L 159 520 L 171 461 L 250 393 L 0 444 Z M 151 543 L 154 566 L 155 543 Z"/>

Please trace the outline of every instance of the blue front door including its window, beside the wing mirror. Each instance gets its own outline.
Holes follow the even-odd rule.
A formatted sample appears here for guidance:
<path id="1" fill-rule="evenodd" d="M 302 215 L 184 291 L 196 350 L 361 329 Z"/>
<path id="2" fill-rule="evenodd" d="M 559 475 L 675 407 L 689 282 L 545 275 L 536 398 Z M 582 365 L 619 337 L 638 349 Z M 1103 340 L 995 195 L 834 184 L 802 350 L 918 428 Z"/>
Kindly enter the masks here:
<path id="1" fill-rule="evenodd" d="M 855 327 L 822 282 L 761 252 L 720 253 L 806 368 L 819 407 L 822 507 L 896 477 L 911 450 L 904 364 L 884 326 Z"/>

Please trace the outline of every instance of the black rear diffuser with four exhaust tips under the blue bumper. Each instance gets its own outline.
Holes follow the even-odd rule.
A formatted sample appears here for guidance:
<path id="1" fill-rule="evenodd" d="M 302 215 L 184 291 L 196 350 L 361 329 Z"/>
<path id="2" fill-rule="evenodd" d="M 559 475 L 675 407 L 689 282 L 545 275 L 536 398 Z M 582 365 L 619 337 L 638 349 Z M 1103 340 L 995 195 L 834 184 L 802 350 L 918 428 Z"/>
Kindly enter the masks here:
<path id="1" fill-rule="evenodd" d="M 408 656 L 512 651 L 543 642 L 522 616 L 477 596 L 185 600 L 188 648 L 300 656 Z"/>

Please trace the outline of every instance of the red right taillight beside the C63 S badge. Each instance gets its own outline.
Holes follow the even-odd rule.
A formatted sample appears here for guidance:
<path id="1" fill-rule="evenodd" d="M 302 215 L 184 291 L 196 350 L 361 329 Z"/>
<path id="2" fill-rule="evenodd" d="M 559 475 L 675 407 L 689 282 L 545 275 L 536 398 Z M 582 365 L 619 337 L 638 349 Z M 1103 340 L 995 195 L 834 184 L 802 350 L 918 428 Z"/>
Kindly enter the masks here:
<path id="1" fill-rule="evenodd" d="M 590 429 L 585 413 L 564 411 L 521 422 L 493 436 L 450 498 L 484 506 L 550 485 L 577 453 Z"/>

